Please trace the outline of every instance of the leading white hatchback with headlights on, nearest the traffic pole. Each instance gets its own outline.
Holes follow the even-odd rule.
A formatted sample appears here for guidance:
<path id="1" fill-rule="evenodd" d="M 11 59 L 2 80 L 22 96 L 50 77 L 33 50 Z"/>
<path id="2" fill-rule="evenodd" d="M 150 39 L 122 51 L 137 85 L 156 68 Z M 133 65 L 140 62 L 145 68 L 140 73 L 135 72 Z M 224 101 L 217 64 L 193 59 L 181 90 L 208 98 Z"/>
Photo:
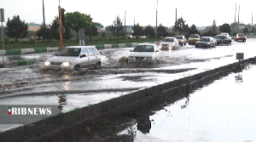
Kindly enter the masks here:
<path id="1" fill-rule="evenodd" d="M 70 46 L 44 62 L 44 68 L 78 70 L 100 67 L 101 54 L 94 46 Z"/>

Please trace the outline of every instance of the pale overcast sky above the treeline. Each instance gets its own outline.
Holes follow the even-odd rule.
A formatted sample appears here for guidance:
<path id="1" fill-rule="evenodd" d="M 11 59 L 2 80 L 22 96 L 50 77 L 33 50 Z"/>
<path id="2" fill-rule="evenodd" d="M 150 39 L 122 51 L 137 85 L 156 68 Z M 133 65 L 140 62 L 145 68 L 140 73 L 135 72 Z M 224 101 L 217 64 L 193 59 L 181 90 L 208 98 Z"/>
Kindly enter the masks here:
<path id="1" fill-rule="evenodd" d="M 103 26 L 111 26 L 115 17 L 119 15 L 123 25 L 155 26 L 157 0 L 61 0 L 61 8 L 67 12 L 78 11 L 90 14 L 94 22 Z M 217 26 L 232 23 L 236 20 L 240 5 L 240 22 L 244 24 L 256 23 L 255 0 L 158 0 L 158 25 L 173 26 L 175 10 L 177 18 L 183 17 L 186 24 L 191 26 L 212 26 L 213 20 Z M 59 0 L 44 0 L 45 23 L 51 24 L 58 15 Z M 236 8 L 237 7 L 237 8 Z M 8 18 L 19 14 L 26 23 L 43 23 L 43 0 L 1 0 L 0 9 L 4 9 L 5 26 Z M 125 18 L 126 10 L 126 18 Z M 254 22 L 253 22 L 254 25 Z"/>

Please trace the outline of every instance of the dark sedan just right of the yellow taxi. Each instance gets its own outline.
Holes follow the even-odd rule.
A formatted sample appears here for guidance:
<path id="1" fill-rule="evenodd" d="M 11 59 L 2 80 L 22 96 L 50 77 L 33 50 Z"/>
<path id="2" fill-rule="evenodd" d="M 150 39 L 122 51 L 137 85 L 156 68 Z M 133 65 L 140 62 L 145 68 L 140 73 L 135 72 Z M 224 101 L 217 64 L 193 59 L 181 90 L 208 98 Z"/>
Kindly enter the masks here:
<path id="1" fill-rule="evenodd" d="M 213 37 L 201 37 L 195 43 L 195 48 L 211 48 L 217 45 L 217 41 Z"/>

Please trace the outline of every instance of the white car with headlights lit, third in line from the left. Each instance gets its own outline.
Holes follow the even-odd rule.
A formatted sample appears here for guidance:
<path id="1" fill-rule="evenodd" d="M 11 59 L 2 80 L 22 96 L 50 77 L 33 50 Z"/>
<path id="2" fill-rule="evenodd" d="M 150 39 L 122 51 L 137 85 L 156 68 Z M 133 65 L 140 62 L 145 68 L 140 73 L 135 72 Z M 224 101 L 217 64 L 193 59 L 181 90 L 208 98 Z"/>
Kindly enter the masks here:
<path id="1" fill-rule="evenodd" d="M 175 48 L 179 48 L 179 43 L 176 37 L 165 37 L 160 41 L 159 48 L 161 50 L 172 50 Z"/>

